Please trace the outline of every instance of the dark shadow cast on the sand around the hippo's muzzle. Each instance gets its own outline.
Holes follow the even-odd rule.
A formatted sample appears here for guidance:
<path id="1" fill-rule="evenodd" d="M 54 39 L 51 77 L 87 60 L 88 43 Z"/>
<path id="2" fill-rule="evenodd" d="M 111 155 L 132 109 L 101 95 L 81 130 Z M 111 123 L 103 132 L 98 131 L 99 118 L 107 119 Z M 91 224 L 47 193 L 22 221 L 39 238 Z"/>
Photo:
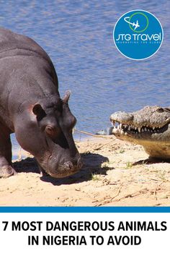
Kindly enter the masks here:
<path id="1" fill-rule="evenodd" d="M 104 157 L 103 155 L 99 155 L 96 153 L 82 153 L 81 158 L 84 162 L 84 166 L 78 173 L 61 179 L 56 179 L 48 175 L 42 176 L 40 177 L 40 179 L 43 182 L 50 182 L 53 185 L 62 185 L 87 182 L 91 180 L 92 174 L 107 175 L 107 171 L 110 168 L 107 166 L 102 166 L 102 163 L 109 161 L 107 157 Z M 14 163 L 14 168 L 18 173 L 33 172 L 40 174 L 35 158 L 25 158 L 22 161 L 17 161 Z"/>

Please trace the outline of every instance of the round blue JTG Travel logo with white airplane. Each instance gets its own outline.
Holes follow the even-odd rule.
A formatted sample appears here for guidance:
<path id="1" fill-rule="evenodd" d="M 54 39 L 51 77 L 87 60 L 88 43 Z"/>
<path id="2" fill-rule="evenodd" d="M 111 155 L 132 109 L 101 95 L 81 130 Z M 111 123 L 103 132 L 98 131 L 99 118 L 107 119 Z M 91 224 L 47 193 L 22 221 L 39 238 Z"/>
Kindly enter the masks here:
<path id="1" fill-rule="evenodd" d="M 147 59 L 156 54 L 164 38 L 159 20 L 150 12 L 133 10 L 117 20 L 113 40 L 120 53 L 129 59 Z"/>

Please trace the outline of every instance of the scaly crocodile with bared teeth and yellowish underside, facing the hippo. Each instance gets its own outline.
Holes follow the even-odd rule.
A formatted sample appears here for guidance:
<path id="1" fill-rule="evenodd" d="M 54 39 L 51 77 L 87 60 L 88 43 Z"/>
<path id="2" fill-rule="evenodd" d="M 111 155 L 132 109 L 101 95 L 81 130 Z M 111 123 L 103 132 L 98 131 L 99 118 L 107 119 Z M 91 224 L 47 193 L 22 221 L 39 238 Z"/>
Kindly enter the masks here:
<path id="1" fill-rule="evenodd" d="M 151 158 L 170 160 L 170 107 L 146 106 L 110 116 L 112 133 L 120 140 L 143 145 Z"/>

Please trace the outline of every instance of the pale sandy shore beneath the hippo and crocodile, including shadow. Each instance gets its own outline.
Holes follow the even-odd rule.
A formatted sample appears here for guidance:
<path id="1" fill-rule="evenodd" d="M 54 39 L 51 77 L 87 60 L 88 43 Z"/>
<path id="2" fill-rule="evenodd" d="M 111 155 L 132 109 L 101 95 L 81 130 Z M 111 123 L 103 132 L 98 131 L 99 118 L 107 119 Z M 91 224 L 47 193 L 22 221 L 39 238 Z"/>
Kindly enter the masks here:
<path id="1" fill-rule="evenodd" d="M 114 136 L 76 145 L 84 167 L 64 179 L 42 178 L 34 158 L 15 162 L 18 174 L 0 179 L 0 205 L 170 205 L 170 163 Z"/>

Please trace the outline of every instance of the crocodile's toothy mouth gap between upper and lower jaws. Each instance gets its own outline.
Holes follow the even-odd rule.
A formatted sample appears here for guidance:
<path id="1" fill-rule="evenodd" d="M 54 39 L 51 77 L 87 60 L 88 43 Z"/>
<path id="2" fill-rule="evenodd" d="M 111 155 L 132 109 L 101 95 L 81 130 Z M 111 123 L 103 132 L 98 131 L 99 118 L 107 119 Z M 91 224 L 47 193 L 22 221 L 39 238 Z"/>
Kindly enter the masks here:
<path id="1" fill-rule="evenodd" d="M 165 124 L 163 127 L 135 127 L 134 124 L 121 124 L 118 121 L 112 121 L 112 126 L 112 132 L 114 135 L 142 135 L 144 133 L 152 135 L 156 133 L 165 132 L 166 129 L 168 129 L 168 124 Z"/>

